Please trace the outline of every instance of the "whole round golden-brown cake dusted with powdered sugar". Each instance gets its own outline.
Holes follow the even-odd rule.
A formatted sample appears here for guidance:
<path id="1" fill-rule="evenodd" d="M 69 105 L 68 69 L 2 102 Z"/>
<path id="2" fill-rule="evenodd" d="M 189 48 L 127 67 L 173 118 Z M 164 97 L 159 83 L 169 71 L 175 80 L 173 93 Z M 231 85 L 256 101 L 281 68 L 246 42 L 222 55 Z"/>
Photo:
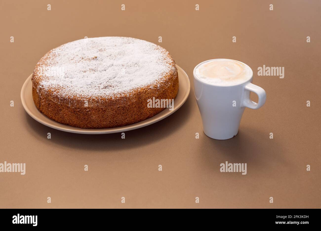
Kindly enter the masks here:
<path id="1" fill-rule="evenodd" d="M 42 57 L 32 74 L 32 97 L 39 111 L 78 128 L 114 128 L 145 120 L 165 109 L 154 104 L 155 99 L 173 100 L 177 93 L 177 68 L 169 52 L 128 37 L 66 43 Z"/>

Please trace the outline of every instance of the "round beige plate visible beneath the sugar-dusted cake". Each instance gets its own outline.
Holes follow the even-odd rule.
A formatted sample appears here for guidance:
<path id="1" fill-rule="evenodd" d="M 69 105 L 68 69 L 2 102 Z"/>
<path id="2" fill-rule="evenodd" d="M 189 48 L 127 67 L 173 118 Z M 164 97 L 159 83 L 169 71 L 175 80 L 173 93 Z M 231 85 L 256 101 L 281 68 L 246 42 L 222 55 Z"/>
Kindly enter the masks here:
<path id="1" fill-rule="evenodd" d="M 178 94 L 174 100 L 174 110 L 169 111 L 169 108 L 166 108 L 164 111 L 161 111 L 160 113 L 154 115 L 151 118 L 148 118 L 147 120 L 140 121 L 138 123 L 130 124 L 123 127 L 117 127 L 117 128 L 106 128 L 106 129 L 82 129 L 82 128 L 76 128 L 72 126 L 68 126 L 62 123 L 58 123 L 55 120 L 49 119 L 47 116 L 42 114 L 36 105 L 33 102 L 32 99 L 32 82 L 31 82 L 31 76 L 30 75 L 27 80 L 24 82 L 22 89 L 21 89 L 21 101 L 22 105 L 24 107 L 24 110 L 27 111 L 27 113 L 35 120 L 37 120 L 39 123 L 42 123 L 50 128 L 58 129 L 61 131 L 67 131 L 67 132 L 73 132 L 73 133 L 82 133 L 82 134 L 105 134 L 105 133 L 116 133 L 116 132 L 123 132 L 123 131 L 129 131 L 133 129 L 138 129 L 145 127 L 147 125 L 150 125 L 152 123 L 156 123 L 166 117 L 168 117 L 170 114 L 174 113 L 178 108 L 180 108 L 185 101 L 187 100 L 189 91 L 190 91 L 190 83 L 187 74 L 185 71 L 178 67 L 178 81 L 179 81 L 179 89 Z"/>

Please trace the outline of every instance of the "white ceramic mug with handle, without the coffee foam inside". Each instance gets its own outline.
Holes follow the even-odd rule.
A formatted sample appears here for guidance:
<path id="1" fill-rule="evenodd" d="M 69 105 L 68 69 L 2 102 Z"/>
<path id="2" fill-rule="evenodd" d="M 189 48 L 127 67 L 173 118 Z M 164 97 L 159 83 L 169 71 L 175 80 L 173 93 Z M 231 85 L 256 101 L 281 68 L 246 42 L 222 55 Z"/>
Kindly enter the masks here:
<path id="1" fill-rule="evenodd" d="M 212 60 L 214 59 L 204 62 Z M 245 107 L 258 109 L 264 105 L 265 91 L 263 88 L 252 84 L 253 71 L 251 68 L 244 83 L 232 86 L 206 83 L 197 78 L 195 74 L 196 68 L 204 62 L 198 64 L 193 71 L 194 92 L 201 112 L 204 133 L 213 139 L 230 139 L 239 132 L 239 124 Z M 258 95 L 258 103 L 250 100 L 250 92 Z"/>

